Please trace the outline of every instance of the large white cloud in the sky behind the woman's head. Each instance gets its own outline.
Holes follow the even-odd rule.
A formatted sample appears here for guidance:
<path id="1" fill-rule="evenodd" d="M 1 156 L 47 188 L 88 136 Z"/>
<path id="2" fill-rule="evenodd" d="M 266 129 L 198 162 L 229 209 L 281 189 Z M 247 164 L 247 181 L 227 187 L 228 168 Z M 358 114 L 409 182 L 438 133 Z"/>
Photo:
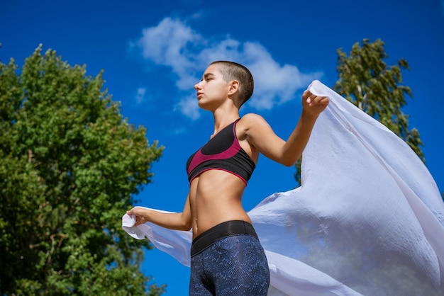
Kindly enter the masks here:
<path id="1" fill-rule="evenodd" d="M 294 99 L 296 91 L 321 77 L 319 72 L 304 74 L 294 65 L 279 64 L 258 42 L 241 42 L 229 35 L 206 39 L 179 19 L 164 18 L 158 25 L 145 28 L 137 45 L 145 59 L 172 69 L 178 89 L 193 93 L 179 101 L 175 109 L 194 120 L 199 118 L 199 107 L 193 86 L 214 60 L 233 60 L 250 69 L 255 92 L 248 104 L 257 110 L 271 110 Z"/>

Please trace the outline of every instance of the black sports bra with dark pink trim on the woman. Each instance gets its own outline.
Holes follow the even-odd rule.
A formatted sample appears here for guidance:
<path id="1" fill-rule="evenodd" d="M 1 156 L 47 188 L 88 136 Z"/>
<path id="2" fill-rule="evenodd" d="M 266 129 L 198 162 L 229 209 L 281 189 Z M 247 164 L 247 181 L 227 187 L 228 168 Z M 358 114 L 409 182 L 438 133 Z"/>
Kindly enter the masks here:
<path id="1" fill-rule="evenodd" d="M 201 149 L 189 156 L 187 173 L 190 183 L 196 176 L 211 169 L 233 173 L 233 175 L 241 178 L 245 184 L 250 180 L 256 165 L 247 152 L 240 147 L 235 132 L 236 123 L 239 120 L 240 118 L 224 127 Z"/>

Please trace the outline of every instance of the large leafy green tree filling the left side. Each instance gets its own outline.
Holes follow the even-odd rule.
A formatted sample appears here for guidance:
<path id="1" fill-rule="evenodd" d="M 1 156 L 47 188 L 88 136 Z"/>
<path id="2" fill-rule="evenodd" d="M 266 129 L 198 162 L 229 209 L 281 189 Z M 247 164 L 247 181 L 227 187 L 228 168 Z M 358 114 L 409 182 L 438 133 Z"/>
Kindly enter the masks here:
<path id="1" fill-rule="evenodd" d="M 162 147 L 103 89 L 40 45 L 0 61 L 0 294 L 160 295 L 148 240 L 121 229 Z"/>

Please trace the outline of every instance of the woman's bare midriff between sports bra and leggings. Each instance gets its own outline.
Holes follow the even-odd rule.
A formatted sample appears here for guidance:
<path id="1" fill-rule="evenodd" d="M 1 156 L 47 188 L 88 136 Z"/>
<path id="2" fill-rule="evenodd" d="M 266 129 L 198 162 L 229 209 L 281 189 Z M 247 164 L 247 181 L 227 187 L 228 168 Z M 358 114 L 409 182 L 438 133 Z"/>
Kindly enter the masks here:
<path id="1" fill-rule="evenodd" d="M 194 178 L 189 188 L 193 237 L 226 221 L 251 223 L 242 207 L 245 187 L 238 176 L 217 169 L 204 171 Z"/>

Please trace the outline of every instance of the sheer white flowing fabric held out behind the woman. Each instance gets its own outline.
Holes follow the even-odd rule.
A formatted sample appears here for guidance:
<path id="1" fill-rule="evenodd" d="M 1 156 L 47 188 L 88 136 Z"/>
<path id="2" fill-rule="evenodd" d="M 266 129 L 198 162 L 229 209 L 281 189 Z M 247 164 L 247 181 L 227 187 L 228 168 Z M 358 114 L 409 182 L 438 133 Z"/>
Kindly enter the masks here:
<path id="1" fill-rule="evenodd" d="M 248 214 L 270 266 L 269 295 L 444 295 L 444 203 L 403 140 L 319 81 L 330 104 L 303 154 L 302 186 Z M 189 266 L 191 232 L 143 224 L 148 237 Z"/>

